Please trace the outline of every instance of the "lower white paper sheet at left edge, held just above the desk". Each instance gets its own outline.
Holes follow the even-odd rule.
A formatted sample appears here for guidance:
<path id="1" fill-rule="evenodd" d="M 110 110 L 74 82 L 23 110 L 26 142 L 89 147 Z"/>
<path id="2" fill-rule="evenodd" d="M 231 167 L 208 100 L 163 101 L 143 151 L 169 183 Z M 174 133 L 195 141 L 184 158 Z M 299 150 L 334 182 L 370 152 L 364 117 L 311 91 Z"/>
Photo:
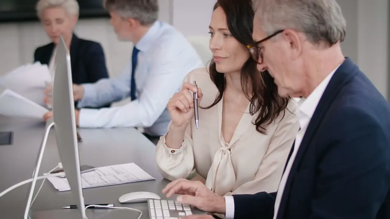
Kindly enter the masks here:
<path id="1" fill-rule="evenodd" d="M 39 104 L 26 99 L 25 97 L 13 92 L 4 90 L 0 94 L 0 114 L 11 117 L 30 117 L 42 118 L 48 109 Z"/>

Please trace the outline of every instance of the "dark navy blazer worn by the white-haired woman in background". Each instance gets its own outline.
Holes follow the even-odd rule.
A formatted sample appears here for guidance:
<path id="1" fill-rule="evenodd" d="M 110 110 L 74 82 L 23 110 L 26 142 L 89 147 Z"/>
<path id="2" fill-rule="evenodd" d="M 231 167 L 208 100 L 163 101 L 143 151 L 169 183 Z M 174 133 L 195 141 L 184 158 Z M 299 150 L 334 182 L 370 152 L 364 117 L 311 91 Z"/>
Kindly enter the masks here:
<path id="1" fill-rule="evenodd" d="M 49 65 L 53 49 L 53 42 L 35 49 L 34 62 Z M 73 34 L 69 53 L 74 84 L 95 83 L 108 78 L 105 55 L 98 42 L 80 39 Z"/>

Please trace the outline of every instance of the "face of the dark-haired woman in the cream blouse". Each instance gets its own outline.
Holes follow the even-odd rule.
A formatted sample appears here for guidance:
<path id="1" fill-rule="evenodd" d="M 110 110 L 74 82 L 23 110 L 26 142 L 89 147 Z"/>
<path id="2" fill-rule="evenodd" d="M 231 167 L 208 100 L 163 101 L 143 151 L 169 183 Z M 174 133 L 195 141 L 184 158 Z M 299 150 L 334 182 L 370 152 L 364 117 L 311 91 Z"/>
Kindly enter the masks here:
<path id="1" fill-rule="evenodd" d="M 209 29 L 209 48 L 213 52 L 216 70 L 221 73 L 240 72 L 250 53 L 230 34 L 226 14 L 221 7 L 214 10 Z"/>

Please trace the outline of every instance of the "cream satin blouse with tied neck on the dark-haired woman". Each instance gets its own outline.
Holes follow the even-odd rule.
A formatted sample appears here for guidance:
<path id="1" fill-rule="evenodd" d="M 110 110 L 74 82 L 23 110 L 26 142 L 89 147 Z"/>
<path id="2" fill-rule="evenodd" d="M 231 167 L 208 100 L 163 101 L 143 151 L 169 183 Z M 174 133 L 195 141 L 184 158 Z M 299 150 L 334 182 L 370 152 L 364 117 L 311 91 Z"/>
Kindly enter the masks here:
<path id="1" fill-rule="evenodd" d="M 200 106 L 214 102 L 218 90 L 206 68 L 191 71 L 185 81 L 196 81 L 202 89 Z M 229 143 L 221 134 L 222 104 L 221 100 L 213 108 L 199 108 L 199 128 L 196 129 L 191 120 L 181 148 L 169 148 L 165 145 L 165 136 L 160 138 L 156 162 L 161 174 L 175 180 L 189 177 L 194 170 L 206 179 L 209 189 L 221 196 L 277 191 L 299 129 L 298 119 L 291 113 L 297 107 L 296 101 L 288 104 L 289 110 L 281 121 L 283 113 L 277 118 L 278 122 L 266 128 L 267 134 L 256 131 L 252 121 L 257 114 L 250 115 L 248 104 Z"/>

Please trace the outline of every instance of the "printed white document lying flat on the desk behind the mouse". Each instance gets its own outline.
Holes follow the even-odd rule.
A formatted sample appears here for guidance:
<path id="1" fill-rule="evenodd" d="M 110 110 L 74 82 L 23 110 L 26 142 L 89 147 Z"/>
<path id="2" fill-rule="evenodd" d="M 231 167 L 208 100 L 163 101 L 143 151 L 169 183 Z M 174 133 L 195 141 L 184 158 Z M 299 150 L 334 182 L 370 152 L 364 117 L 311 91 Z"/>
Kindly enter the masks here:
<path id="1" fill-rule="evenodd" d="M 154 179 L 156 178 L 153 178 L 135 163 L 99 167 L 95 171 L 81 174 L 83 189 Z M 48 180 L 60 192 L 71 190 L 66 178 L 49 177 Z"/>

